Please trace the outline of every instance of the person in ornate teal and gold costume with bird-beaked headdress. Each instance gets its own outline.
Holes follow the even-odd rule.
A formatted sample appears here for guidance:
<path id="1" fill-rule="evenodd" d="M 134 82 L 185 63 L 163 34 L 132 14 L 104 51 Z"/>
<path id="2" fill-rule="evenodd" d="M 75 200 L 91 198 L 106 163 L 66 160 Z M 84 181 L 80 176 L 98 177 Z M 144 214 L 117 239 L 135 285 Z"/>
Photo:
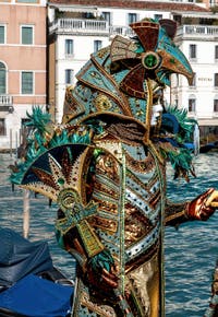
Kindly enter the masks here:
<path id="1" fill-rule="evenodd" d="M 195 121 L 161 102 L 171 73 L 193 78 L 175 22 L 131 27 L 134 36 L 116 36 L 77 73 L 62 125 L 38 108 L 28 115 L 38 129 L 11 177 L 59 206 L 57 239 L 77 262 L 72 316 L 165 316 L 164 227 L 215 212 L 214 189 L 166 198 L 168 161 L 175 178 L 194 175 L 184 143 Z"/>

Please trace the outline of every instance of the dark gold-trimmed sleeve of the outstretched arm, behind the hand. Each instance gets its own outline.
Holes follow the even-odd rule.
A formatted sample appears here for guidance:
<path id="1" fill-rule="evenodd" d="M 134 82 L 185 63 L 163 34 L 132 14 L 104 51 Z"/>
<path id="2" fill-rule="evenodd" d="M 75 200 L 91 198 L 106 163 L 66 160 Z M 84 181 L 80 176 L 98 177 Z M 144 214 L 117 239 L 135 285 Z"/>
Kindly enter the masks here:
<path id="1" fill-rule="evenodd" d="M 189 201 L 173 203 L 167 200 L 165 209 L 165 225 L 178 226 L 181 223 L 190 221 L 186 214 L 186 207 Z"/>

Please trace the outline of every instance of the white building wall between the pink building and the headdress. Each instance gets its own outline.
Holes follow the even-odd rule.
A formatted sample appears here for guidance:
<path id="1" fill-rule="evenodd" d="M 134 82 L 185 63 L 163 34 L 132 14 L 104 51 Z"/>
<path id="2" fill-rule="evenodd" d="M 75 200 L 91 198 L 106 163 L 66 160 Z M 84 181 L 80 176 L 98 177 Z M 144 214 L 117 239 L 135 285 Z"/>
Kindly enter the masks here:
<path id="1" fill-rule="evenodd" d="M 130 14 L 135 14 L 136 20 L 141 21 L 143 19 L 170 19 L 171 13 L 170 11 L 160 11 L 160 10 L 134 10 L 134 9 L 118 9 L 118 8 L 98 8 L 96 14 L 96 19 L 100 21 L 100 16 L 102 13 L 107 12 L 110 13 L 110 23 L 108 23 L 108 30 L 100 34 L 93 31 L 92 33 L 86 32 L 77 32 L 76 30 L 65 30 L 63 27 L 58 27 L 56 31 L 57 40 L 56 40 L 56 102 L 55 102 L 55 111 L 56 111 L 56 121 L 61 122 L 62 120 L 62 110 L 63 110 L 63 102 L 64 102 L 64 94 L 65 94 L 65 78 L 64 72 L 66 69 L 72 69 L 74 72 L 74 80 L 72 84 L 76 83 L 76 73 L 87 62 L 90 58 L 90 55 L 94 51 L 94 42 L 100 40 L 101 46 L 106 47 L 110 45 L 112 38 L 122 33 L 123 30 L 130 28 Z M 48 17 L 50 23 L 55 21 L 55 10 L 51 8 L 48 9 Z M 60 20 L 64 16 L 60 17 Z M 80 20 L 80 19 L 78 19 Z M 114 30 L 114 33 L 111 32 Z M 65 48 L 65 39 L 73 39 L 73 55 L 66 56 L 64 48 Z"/>

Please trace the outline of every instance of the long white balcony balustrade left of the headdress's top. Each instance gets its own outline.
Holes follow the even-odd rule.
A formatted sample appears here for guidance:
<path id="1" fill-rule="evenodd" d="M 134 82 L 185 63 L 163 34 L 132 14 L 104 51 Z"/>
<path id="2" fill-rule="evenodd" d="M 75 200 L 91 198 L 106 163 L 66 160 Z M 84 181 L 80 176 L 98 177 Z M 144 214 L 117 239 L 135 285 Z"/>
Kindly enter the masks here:
<path id="1" fill-rule="evenodd" d="M 59 19 L 50 25 L 49 33 L 105 36 L 133 34 L 129 26 L 111 26 L 107 21 L 95 19 Z"/>

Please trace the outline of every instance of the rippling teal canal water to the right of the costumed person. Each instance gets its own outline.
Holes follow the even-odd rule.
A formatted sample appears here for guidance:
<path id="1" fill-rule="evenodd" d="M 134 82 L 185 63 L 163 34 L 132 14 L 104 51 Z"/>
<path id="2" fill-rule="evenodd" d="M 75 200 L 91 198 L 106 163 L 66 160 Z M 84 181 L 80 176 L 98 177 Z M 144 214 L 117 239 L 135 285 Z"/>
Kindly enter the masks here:
<path id="1" fill-rule="evenodd" d="M 193 199 L 209 187 L 218 189 L 218 153 L 199 154 L 194 165 L 197 177 L 190 184 L 168 178 L 168 195 L 174 201 Z M 166 316 L 204 315 L 218 259 L 217 231 L 218 213 L 207 222 L 182 224 L 178 231 L 166 228 Z"/>

